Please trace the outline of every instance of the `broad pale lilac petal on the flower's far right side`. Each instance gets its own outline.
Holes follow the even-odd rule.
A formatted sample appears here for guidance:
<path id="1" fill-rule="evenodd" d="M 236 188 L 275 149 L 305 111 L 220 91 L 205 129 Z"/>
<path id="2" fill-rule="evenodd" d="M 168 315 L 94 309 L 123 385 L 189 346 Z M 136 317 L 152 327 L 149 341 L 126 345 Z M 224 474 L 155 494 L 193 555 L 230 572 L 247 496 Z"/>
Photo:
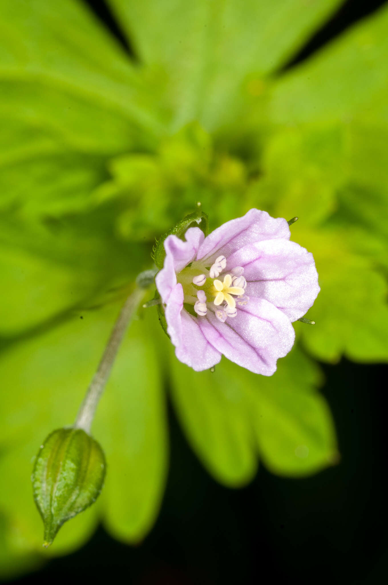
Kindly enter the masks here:
<path id="1" fill-rule="evenodd" d="M 257 242 L 228 260 L 244 266 L 248 296 L 272 302 L 291 321 L 307 312 L 320 291 L 313 254 L 295 242 Z"/>

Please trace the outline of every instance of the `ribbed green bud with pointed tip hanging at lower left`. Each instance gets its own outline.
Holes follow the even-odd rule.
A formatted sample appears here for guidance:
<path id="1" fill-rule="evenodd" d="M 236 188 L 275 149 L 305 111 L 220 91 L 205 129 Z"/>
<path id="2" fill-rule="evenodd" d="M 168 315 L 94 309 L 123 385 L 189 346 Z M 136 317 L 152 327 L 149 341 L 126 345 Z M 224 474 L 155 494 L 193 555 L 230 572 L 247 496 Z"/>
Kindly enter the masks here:
<path id="1" fill-rule="evenodd" d="M 53 542 L 65 521 L 95 502 L 105 472 L 101 446 L 82 429 L 57 429 L 48 435 L 31 477 L 44 524 L 43 546 Z"/>

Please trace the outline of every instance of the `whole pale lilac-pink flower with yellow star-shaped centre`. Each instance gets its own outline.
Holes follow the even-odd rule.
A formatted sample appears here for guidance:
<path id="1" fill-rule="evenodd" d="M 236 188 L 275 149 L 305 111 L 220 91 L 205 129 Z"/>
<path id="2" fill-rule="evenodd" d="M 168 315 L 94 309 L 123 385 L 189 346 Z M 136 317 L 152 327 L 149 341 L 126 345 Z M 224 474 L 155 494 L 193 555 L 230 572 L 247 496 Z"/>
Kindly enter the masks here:
<path id="1" fill-rule="evenodd" d="M 165 239 L 155 278 L 176 357 L 201 371 L 223 354 L 271 376 L 293 346 L 292 321 L 320 291 L 313 254 L 289 241 L 285 219 L 258 209 L 206 238 L 189 228 L 185 238 Z"/>

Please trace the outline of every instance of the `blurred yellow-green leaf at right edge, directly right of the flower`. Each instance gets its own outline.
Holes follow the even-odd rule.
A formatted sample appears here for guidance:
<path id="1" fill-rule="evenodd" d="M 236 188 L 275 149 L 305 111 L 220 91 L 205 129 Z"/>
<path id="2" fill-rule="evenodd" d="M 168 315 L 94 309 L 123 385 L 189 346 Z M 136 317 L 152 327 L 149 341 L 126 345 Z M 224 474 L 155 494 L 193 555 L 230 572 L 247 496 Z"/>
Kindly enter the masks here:
<path id="1" fill-rule="evenodd" d="M 351 230 L 294 228 L 302 246 L 313 250 L 321 292 L 303 326 L 304 346 L 318 359 L 338 362 L 388 360 L 387 283 L 374 263 L 351 251 Z M 299 324 L 298 324 L 299 326 Z"/>

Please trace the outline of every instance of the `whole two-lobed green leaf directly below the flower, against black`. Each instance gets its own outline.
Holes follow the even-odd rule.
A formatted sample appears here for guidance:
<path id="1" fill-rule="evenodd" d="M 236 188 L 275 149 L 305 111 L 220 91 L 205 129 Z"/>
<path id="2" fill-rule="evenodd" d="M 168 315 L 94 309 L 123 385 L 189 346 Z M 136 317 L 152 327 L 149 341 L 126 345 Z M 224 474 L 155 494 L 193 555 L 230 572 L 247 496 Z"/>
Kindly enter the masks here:
<path id="1" fill-rule="evenodd" d="M 330 409 L 316 390 L 322 375 L 297 347 L 270 377 L 224 358 L 214 372 L 195 372 L 175 356 L 171 367 L 183 431 L 221 483 L 249 481 L 257 451 L 269 470 L 284 476 L 310 475 L 338 462 Z"/>

